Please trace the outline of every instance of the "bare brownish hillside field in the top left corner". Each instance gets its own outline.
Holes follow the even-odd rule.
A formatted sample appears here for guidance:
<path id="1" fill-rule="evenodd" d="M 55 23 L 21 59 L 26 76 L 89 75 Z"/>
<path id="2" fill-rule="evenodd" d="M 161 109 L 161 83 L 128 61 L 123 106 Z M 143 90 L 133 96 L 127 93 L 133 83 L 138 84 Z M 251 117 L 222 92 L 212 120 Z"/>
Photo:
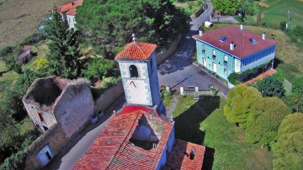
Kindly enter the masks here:
<path id="1" fill-rule="evenodd" d="M 0 0 L 0 48 L 14 45 L 41 24 L 53 5 L 69 0 Z"/>

